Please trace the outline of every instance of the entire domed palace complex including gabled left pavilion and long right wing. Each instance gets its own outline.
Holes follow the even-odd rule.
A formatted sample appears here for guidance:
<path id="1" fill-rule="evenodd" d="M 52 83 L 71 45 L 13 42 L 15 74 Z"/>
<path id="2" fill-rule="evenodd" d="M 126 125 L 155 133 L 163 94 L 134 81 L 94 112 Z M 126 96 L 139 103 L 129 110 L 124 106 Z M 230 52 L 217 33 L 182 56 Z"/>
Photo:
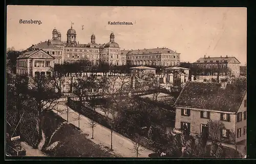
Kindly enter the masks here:
<path id="1" fill-rule="evenodd" d="M 61 33 L 57 29 L 52 31 L 52 39 L 32 45 L 25 54 L 17 58 L 16 73 L 50 74 L 54 64 L 64 62 L 74 63 L 79 60 L 90 61 L 92 65 L 100 62 L 109 65 L 156 65 L 177 66 L 180 64 L 180 53 L 167 48 L 120 51 L 115 42 L 115 35 L 110 34 L 110 40 L 104 44 L 96 43 L 96 36 L 91 35 L 91 42 L 81 44 L 76 41 L 76 31 L 67 31 L 67 41 L 61 40 Z M 127 62 L 127 63 L 126 63 Z"/>

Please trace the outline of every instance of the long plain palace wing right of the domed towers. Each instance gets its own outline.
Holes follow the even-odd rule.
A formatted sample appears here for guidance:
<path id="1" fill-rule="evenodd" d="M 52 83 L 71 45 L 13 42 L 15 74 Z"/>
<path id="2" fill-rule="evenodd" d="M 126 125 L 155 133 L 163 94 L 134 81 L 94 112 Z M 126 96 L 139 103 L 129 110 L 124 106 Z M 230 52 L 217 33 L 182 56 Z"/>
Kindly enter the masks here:
<path id="1" fill-rule="evenodd" d="M 131 50 L 126 53 L 126 63 L 129 65 L 180 65 L 180 53 L 167 48 Z"/>

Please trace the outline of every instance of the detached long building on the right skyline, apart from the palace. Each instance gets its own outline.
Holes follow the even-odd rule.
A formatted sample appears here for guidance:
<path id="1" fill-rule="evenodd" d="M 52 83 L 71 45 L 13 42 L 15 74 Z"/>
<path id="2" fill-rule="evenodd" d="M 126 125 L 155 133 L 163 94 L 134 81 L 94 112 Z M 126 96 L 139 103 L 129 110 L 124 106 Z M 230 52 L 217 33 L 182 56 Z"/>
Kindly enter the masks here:
<path id="1" fill-rule="evenodd" d="M 193 63 L 194 66 L 204 69 L 215 70 L 216 72 L 213 75 L 218 75 L 218 71 L 222 69 L 220 75 L 227 76 L 225 69 L 230 69 L 232 76 L 238 77 L 240 74 L 240 61 L 236 57 L 203 57 L 199 58 L 196 62 Z"/>

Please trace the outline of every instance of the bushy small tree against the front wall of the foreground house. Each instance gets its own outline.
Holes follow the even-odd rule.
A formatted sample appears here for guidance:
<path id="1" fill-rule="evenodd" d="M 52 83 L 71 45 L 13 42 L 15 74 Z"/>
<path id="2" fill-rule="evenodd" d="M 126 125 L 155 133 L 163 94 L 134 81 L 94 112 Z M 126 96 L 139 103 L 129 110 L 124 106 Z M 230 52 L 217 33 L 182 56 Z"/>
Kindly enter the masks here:
<path id="1" fill-rule="evenodd" d="M 209 128 L 209 138 L 212 140 L 212 143 L 218 143 L 221 139 L 221 130 L 225 129 L 224 124 L 219 120 L 209 120 L 208 123 Z"/>

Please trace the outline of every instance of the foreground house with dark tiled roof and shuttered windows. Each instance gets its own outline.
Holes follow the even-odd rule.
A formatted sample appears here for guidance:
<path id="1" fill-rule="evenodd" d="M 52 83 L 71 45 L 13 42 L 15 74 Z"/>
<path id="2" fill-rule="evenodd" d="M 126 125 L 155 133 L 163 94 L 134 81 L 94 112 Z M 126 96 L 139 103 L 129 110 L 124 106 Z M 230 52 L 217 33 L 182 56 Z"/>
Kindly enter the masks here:
<path id="1" fill-rule="evenodd" d="M 233 84 L 187 82 L 175 102 L 175 128 L 187 129 L 191 135 L 208 133 L 209 120 L 221 121 L 221 138 L 229 141 L 230 132 L 236 133 L 236 142 L 246 139 L 246 89 Z"/>

